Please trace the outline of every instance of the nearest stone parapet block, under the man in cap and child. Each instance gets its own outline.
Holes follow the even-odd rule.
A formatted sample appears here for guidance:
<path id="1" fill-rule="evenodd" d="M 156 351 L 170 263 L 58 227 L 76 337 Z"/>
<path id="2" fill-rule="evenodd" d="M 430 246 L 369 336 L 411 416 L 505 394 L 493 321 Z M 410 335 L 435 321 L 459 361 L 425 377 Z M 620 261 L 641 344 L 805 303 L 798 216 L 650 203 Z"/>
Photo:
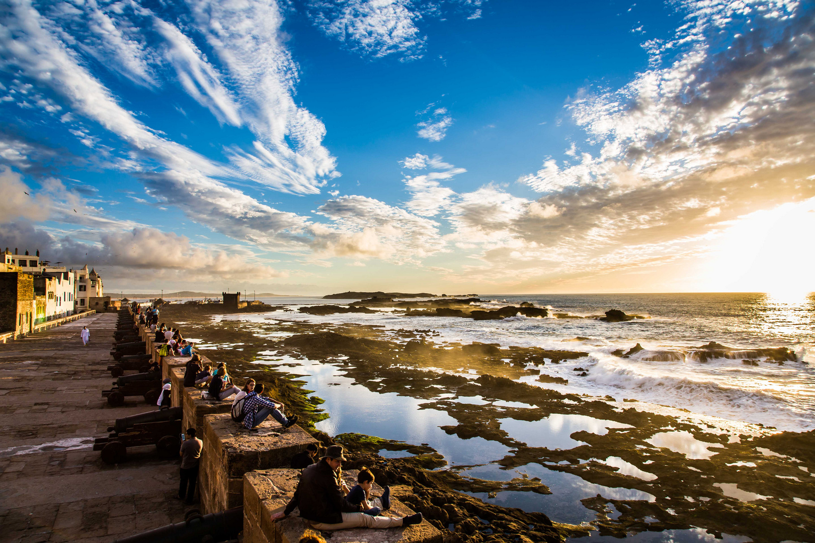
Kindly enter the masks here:
<path id="1" fill-rule="evenodd" d="M 343 471 L 346 484 L 356 484 L 358 471 Z M 295 509 L 289 517 L 276 523 L 271 515 L 284 510 L 297 488 L 300 471 L 291 469 L 250 471 L 244 475 L 244 543 L 297 543 L 311 528 Z M 375 483 L 372 493 L 381 495 Z M 394 497 L 384 515 L 404 517 L 414 511 Z M 426 520 L 406 528 L 348 528 L 332 532 L 331 543 L 442 543 L 442 533 Z"/>

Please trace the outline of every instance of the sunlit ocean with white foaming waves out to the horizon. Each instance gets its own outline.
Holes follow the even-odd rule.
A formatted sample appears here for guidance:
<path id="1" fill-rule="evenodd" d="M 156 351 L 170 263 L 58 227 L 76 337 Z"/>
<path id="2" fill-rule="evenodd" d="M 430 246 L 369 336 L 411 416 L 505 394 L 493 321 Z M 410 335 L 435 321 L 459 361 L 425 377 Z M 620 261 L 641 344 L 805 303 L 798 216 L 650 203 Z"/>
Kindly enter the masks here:
<path id="1" fill-rule="evenodd" d="M 734 421 L 763 424 L 783 431 L 815 428 L 815 295 L 800 300 L 777 300 L 761 293 L 615 294 L 479 296 L 494 309 L 532 302 L 552 313 L 575 316 L 602 315 L 621 309 L 645 319 L 601 322 L 596 319 L 509 317 L 500 321 L 474 321 L 460 317 L 406 317 L 383 310 L 381 314 L 340 313 L 314 316 L 288 313 L 280 320 L 294 322 L 355 322 L 387 329 L 438 332 L 434 341 L 496 343 L 502 347 L 541 347 L 585 351 L 588 358 L 547 366 L 546 373 L 569 383 L 538 383 L 560 392 L 614 396 L 688 409 Z M 348 304 L 354 300 L 268 298 L 268 304 L 292 309 L 314 304 Z M 271 313 L 274 315 L 275 313 Z M 269 315 L 242 315 L 257 319 Z M 587 338 L 575 341 L 575 338 Z M 731 348 L 792 348 L 800 363 L 761 363 L 746 366 L 742 358 L 700 363 L 642 361 L 653 351 L 687 353 L 711 341 Z M 610 353 L 635 344 L 646 350 L 622 359 Z M 575 379 L 575 367 L 588 375 Z"/>

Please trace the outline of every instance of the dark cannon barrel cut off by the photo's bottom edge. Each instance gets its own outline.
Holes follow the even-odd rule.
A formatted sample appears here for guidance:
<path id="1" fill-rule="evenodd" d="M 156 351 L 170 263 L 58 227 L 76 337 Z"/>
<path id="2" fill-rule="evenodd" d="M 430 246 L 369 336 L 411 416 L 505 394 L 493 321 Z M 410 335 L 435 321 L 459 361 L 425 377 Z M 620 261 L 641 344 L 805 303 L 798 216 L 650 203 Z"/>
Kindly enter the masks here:
<path id="1" fill-rule="evenodd" d="M 212 541 L 234 538 L 244 529 L 244 508 L 235 507 L 209 515 L 192 515 L 183 523 L 167 524 L 135 536 L 113 540 L 113 543 L 200 543 L 204 536 Z"/>

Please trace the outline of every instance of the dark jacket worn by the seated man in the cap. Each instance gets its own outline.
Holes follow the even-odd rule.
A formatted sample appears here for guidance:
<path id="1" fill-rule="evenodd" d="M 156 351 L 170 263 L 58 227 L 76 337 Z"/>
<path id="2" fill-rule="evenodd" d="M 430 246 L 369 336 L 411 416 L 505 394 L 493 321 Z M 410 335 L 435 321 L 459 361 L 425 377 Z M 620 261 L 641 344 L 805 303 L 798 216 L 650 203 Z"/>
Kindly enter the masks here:
<path id="1" fill-rule="evenodd" d="M 295 507 L 300 508 L 303 519 L 326 524 L 341 523 L 342 513 L 362 512 L 362 506 L 353 506 L 346 501 L 337 474 L 325 458 L 302 471 L 300 483 L 284 513 L 289 515 Z"/>

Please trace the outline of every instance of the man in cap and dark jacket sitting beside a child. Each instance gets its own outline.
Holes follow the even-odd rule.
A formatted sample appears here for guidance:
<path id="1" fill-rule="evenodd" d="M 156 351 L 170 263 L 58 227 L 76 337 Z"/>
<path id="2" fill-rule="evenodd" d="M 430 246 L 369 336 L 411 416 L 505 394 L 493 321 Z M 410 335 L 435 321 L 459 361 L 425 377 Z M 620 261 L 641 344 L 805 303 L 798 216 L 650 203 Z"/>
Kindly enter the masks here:
<path id="1" fill-rule="evenodd" d="M 272 521 L 285 518 L 295 507 L 300 508 L 302 519 L 311 522 L 315 530 L 341 530 L 344 528 L 399 528 L 421 523 L 421 513 L 401 519 L 394 517 L 374 517 L 364 515 L 362 506 L 346 501 L 337 471 L 346 458 L 342 456 L 341 445 L 328 447 L 325 456 L 316 464 L 306 467 L 300 475 L 300 482 L 289 505 L 282 514 L 273 515 Z"/>

